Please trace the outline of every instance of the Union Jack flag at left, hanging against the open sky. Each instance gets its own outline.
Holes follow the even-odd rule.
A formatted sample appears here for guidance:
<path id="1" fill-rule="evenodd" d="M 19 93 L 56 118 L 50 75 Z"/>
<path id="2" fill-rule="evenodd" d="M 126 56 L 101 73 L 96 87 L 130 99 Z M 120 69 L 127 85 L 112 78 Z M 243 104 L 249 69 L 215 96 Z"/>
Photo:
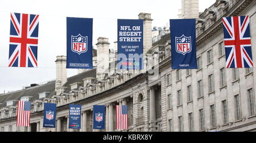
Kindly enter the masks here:
<path id="1" fill-rule="evenodd" d="M 11 13 L 9 67 L 38 67 L 39 15 Z"/>

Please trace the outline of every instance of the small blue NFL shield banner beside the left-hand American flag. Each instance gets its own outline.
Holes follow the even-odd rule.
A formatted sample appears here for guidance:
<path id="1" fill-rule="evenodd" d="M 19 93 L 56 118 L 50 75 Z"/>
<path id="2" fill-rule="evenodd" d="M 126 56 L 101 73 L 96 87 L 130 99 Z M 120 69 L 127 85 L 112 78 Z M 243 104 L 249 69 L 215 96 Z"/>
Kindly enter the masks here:
<path id="1" fill-rule="evenodd" d="M 56 103 L 44 103 L 43 127 L 55 128 Z"/>

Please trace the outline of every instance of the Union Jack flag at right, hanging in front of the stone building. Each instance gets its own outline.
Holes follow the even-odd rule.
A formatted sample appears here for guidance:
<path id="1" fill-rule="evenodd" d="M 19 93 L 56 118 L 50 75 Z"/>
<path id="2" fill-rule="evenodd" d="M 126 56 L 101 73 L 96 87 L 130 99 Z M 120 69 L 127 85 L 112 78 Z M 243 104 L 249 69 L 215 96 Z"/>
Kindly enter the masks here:
<path id="1" fill-rule="evenodd" d="M 253 67 L 249 16 L 222 18 L 226 68 Z"/>

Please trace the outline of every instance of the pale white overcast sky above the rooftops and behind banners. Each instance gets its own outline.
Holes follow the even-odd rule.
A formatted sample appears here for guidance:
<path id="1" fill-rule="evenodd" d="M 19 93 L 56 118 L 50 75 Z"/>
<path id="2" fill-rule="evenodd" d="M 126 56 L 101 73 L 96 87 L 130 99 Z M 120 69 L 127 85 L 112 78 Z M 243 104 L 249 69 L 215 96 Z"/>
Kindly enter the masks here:
<path id="1" fill-rule="evenodd" d="M 199 0 L 199 11 L 216 0 Z M 152 27 L 163 27 L 177 19 L 181 0 L 81 0 L 81 1 L 1 1 L 0 5 L 0 93 L 22 89 L 32 83 L 55 79 L 55 59 L 66 54 L 66 17 L 93 18 L 93 45 L 98 37 L 117 41 L 117 19 L 138 19 L 140 12 L 151 14 Z M 10 12 L 39 14 L 38 68 L 7 67 Z M 68 69 L 68 77 L 77 70 Z"/>

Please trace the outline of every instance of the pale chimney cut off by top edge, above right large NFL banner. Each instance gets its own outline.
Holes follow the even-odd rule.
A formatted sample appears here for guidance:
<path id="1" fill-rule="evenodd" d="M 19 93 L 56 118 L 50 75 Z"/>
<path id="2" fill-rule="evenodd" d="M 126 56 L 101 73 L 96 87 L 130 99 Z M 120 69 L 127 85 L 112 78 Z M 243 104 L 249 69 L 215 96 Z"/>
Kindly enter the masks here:
<path id="1" fill-rule="evenodd" d="M 181 15 L 183 19 L 199 18 L 199 0 L 182 0 Z"/>

